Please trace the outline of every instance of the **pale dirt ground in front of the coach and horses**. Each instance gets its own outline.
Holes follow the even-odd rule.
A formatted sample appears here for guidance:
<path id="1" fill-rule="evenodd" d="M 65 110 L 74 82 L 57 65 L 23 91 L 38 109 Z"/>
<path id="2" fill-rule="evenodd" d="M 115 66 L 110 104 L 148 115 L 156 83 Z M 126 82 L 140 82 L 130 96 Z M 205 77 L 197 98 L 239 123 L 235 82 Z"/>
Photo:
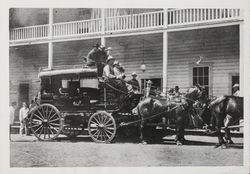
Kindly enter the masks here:
<path id="1" fill-rule="evenodd" d="M 235 145 L 228 149 L 215 148 L 216 137 L 188 135 L 186 139 L 186 145 L 176 146 L 173 136 L 142 145 L 132 138 L 100 144 L 83 136 L 74 141 L 60 137 L 53 142 L 39 142 L 33 136 L 12 135 L 10 167 L 243 165 L 243 138 L 233 138 Z"/>

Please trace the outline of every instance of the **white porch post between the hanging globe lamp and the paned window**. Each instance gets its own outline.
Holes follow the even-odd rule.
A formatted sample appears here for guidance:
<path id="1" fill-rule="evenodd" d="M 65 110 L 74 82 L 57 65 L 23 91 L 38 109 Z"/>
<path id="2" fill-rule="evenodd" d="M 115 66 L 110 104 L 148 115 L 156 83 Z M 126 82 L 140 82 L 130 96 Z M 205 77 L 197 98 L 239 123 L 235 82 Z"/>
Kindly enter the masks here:
<path id="1" fill-rule="evenodd" d="M 167 92 L 167 70 L 168 70 L 168 10 L 164 9 L 164 28 L 163 31 L 163 71 L 162 71 L 162 92 Z"/>

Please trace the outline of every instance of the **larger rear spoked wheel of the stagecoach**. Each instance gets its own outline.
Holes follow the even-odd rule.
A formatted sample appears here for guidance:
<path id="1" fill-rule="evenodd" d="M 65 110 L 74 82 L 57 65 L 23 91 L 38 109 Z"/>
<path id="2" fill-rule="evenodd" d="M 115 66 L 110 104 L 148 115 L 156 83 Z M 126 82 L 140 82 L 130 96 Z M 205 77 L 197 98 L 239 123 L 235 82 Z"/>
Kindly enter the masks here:
<path id="1" fill-rule="evenodd" d="M 51 104 L 36 107 L 30 117 L 33 134 L 43 141 L 53 140 L 62 131 L 62 119 L 59 110 Z"/>

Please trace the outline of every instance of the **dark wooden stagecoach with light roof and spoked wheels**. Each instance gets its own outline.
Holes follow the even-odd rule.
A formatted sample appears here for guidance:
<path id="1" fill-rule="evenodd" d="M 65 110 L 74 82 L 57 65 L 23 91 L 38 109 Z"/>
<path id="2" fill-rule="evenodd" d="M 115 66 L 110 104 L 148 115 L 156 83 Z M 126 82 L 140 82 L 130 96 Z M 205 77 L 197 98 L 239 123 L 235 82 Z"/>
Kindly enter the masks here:
<path id="1" fill-rule="evenodd" d="M 110 142 L 120 123 L 138 120 L 132 109 L 141 94 L 127 93 L 118 101 L 114 94 L 119 89 L 98 77 L 95 67 L 55 67 L 41 70 L 38 76 L 40 90 L 29 126 L 39 140 L 53 140 L 60 134 L 76 137 L 88 130 L 95 142 Z"/>

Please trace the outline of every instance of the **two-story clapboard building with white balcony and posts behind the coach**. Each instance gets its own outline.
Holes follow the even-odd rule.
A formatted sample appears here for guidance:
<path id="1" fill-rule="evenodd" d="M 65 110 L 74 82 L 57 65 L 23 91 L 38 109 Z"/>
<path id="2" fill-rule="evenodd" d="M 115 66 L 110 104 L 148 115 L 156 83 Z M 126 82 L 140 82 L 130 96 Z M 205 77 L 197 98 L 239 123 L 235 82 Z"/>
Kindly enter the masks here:
<path id="1" fill-rule="evenodd" d="M 36 95 L 41 67 L 80 65 L 96 43 L 112 47 L 141 85 L 199 83 L 213 96 L 243 88 L 241 9 L 10 9 L 9 37 L 10 102 Z"/>

